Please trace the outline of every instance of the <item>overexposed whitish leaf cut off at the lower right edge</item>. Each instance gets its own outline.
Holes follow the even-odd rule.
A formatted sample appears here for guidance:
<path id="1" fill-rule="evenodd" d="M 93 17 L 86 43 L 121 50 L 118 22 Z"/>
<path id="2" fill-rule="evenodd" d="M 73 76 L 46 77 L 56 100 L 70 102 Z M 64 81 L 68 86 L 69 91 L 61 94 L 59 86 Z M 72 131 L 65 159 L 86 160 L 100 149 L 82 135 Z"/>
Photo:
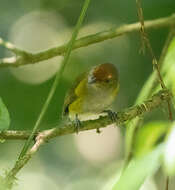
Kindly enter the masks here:
<path id="1" fill-rule="evenodd" d="M 165 143 L 163 154 L 164 168 L 168 175 L 175 175 L 175 122 Z"/>

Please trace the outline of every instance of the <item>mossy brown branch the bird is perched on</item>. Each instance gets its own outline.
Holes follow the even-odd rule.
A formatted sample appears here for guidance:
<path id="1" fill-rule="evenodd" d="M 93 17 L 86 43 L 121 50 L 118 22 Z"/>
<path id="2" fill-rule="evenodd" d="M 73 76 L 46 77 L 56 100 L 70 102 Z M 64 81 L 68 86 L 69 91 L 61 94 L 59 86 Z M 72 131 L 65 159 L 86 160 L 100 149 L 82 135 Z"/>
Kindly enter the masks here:
<path id="1" fill-rule="evenodd" d="M 85 131 L 85 130 L 91 130 L 91 129 L 97 129 L 97 128 L 103 128 L 107 127 L 111 124 L 117 124 L 121 125 L 137 116 L 140 116 L 142 114 L 145 114 L 147 112 L 152 111 L 156 107 L 160 106 L 162 102 L 167 101 L 170 99 L 171 94 L 168 90 L 161 90 L 155 95 L 151 97 L 151 99 L 144 101 L 142 104 L 130 107 L 124 111 L 117 113 L 117 121 L 116 123 L 112 122 L 108 116 L 101 116 L 100 118 L 96 120 L 89 120 L 89 121 L 83 121 L 82 126 L 79 129 L 79 131 Z M 44 130 L 39 133 L 35 134 L 35 137 L 38 138 L 38 136 L 44 138 L 44 141 L 48 141 L 54 137 L 57 136 L 63 136 L 76 133 L 75 126 L 73 124 L 65 124 L 62 127 L 56 127 L 49 130 Z M 0 138 L 7 139 L 7 140 L 26 140 L 30 136 L 30 131 L 4 131 L 1 132 Z"/>

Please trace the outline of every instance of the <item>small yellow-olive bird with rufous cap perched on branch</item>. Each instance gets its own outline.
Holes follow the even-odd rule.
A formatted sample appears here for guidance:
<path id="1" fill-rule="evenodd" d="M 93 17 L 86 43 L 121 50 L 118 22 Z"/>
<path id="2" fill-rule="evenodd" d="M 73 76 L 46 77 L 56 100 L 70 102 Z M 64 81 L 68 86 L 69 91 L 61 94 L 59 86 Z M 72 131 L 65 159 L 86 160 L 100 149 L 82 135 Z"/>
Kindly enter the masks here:
<path id="1" fill-rule="evenodd" d="M 101 113 L 114 113 L 109 106 L 119 90 L 117 68 L 111 63 L 92 67 L 89 72 L 80 75 L 68 91 L 63 115 L 79 125 L 81 121 L 98 118 Z"/>

